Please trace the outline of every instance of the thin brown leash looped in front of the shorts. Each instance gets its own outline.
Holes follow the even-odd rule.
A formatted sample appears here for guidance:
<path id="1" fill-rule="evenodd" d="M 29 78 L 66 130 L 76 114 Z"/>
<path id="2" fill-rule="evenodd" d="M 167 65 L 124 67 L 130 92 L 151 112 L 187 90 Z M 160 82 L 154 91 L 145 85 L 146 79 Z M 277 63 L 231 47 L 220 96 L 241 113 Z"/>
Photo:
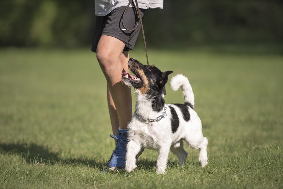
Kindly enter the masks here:
<path id="1" fill-rule="evenodd" d="M 133 2 L 133 0 L 130 0 L 127 7 L 125 8 L 125 11 L 123 13 L 123 16 L 122 16 L 122 25 L 123 27 L 127 30 L 127 31 L 134 31 L 137 26 L 139 25 L 139 21 L 141 22 L 141 28 L 142 28 L 142 37 L 143 37 L 143 43 L 144 43 L 144 49 L 145 49 L 145 52 L 146 52 L 146 56 L 147 56 L 147 45 L 146 45 L 146 42 L 145 42 L 145 36 L 144 36 L 144 31 L 143 31 L 143 25 L 142 25 L 142 17 L 141 17 L 141 14 L 140 14 L 140 11 L 139 11 L 139 5 L 137 3 L 137 0 L 136 1 L 136 5 L 135 3 Z M 136 10 L 136 14 L 138 15 L 138 20 L 136 21 L 136 25 L 133 29 L 128 29 L 125 27 L 124 25 L 124 16 L 125 16 L 125 12 L 127 11 L 127 9 L 129 8 L 130 4 L 133 3 L 134 5 L 134 9 Z M 149 62 L 148 62 L 148 57 L 147 57 L 147 65 L 149 65 Z"/>

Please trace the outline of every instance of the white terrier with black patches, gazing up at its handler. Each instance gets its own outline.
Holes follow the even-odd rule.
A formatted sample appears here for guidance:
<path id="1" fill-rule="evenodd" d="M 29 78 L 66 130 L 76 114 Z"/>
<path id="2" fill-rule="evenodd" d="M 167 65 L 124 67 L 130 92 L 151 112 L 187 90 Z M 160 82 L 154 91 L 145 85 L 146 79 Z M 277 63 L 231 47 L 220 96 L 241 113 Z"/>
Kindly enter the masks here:
<path id="1" fill-rule="evenodd" d="M 142 151 L 158 150 L 157 174 L 165 174 L 169 151 L 178 157 L 178 164 L 184 166 L 188 153 L 183 148 L 183 140 L 199 149 L 199 163 L 208 163 L 208 139 L 203 137 L 202 123 L 194 111 L 194 94 L 188 79 L 176 75 L 171 80 L 171 88 L 182 88 L 184 104 L 165 104 L 165 84 L 173 71 L 160 71 L 154 65 L 143 65 L 130 58 L 128 62 L 134 75 L 122 73 L 122 82 L 135 89 L 136 109 L 128 124 L 125 170 L 132 172 Z"/>

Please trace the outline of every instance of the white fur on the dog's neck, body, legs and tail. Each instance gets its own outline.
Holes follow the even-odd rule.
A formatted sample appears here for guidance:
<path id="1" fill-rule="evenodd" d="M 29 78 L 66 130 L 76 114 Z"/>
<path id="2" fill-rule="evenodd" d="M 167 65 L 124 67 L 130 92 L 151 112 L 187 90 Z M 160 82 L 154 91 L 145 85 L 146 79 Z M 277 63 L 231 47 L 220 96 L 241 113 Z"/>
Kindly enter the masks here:
<path id="1" fill-rule="evenodd" d="M 183 75 L 176 75 L 171 80 L 171 87 L 173 90 L 178 90 L 181 86 L 184 94 L 185 102 L 194 105 L 194 95 L 188 79 Z M 164 111 L 155 112 L 152 110 L 151 102 L 142 95 L 137 89 L 136 95 L 136 112 L 139 116 L 146 119 L 155 119 Z M 169 106 L 174 107 L 179 117 L 178 130 L 173 133 L 171 131 L 171 112 Z M 171 150 L 179 160 L 179 165 L 184 166 L 188 153 L 183 148 L 183 140 L 187 144 L 196 149 L 200 149 L 199 162 L 204 167 L 207 165 L 206 147 L 208 140 L 203 137 L 202 124 L 197 113 L 189 108 L 190 120 L 183 119 L 180 109 L 174 104 L 165 104 L 167 107 L 167 117 L 156 122 L 147 122 L 140 120 L 136 114 L 133 115 L 128 125 L 128 144 L 126 153 L 126 167 L 125 170 L 132 172 L 136 168 L 136 157 L 143 151 L 144 148 L 155 149 L 159 151 L 157 159 L 157 174 L 164 174 L 167 166 L 169 151 Z"/>

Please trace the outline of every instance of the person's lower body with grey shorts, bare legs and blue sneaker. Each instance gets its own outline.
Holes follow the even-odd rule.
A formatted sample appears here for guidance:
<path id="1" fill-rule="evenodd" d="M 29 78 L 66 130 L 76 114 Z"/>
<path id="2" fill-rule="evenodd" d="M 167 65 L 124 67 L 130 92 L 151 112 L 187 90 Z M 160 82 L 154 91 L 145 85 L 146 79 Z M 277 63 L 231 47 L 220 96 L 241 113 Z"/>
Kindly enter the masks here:
<path id="1" fill-rule="evenodd" d="M 121 73 L 128 70 L 129 49 L 133 49 L 140 28 L 135 31 L 124 31 L 121 17 L 125 8 L 114 9 L 104 17 L 97 16 L 97 26 L 93 38 L 92 51 L 97 53 L 97 60 L 107 81 L 107 99 L 116 147 L 110 160 L 109 170 L 125 168 L 125 153 L 127 142 L 127 124 L 132 117 L 132 103 L 130 88 L 122 84 Z M 130 9 L 129 9 L 130 11 Z M 135 13 L 125 15 L 126 25 L 135 25 Z M 133 10 L 132 10 L 133 11 Z M 144 12 L 144 11 L 143 11 Z M 142 12 L 142 14 L 143 14 Z M 123 52 L 124 51 L 124 52 Z"/>

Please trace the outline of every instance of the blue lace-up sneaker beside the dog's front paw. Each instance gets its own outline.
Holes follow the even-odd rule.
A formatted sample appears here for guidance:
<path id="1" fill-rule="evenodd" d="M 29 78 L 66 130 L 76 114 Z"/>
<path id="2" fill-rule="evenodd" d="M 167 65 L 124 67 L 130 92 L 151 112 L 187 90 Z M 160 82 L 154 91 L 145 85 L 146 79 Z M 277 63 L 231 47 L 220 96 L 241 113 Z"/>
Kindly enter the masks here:
<path id="1" fill-rule="evenodd" d="M 117 132 L 117 137 L 114 135 L 110 135 L 112 138 L 117 140 L 117 144 L 115 150 L 113 151 L 108 163 L 107 167 L 109 170 L 120 170 L 124 169 L 126 165 L 126 145 L 127 145 L 127 130 L 119 130 Z"/>

